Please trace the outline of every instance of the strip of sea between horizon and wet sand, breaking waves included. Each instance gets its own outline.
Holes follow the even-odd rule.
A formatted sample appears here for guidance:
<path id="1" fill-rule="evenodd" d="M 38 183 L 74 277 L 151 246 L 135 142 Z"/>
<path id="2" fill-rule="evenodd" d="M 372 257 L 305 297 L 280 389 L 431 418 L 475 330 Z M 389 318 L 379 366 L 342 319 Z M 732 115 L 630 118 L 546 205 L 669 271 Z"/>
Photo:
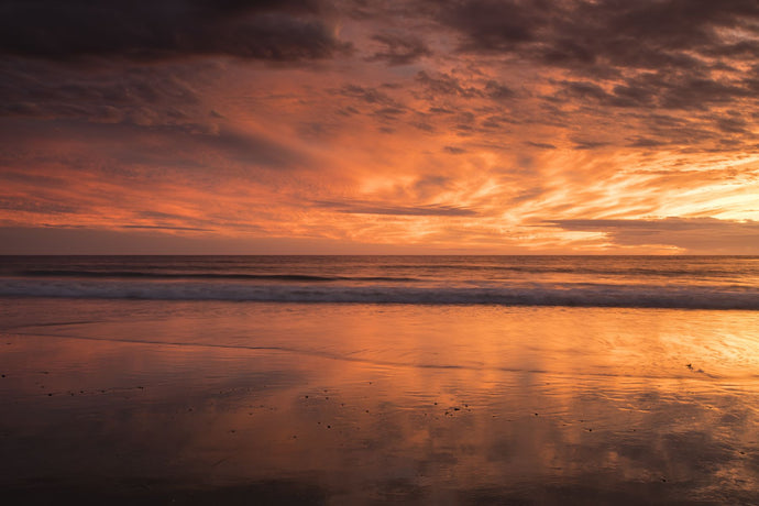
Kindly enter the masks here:
<path id="1" fill-rule="evenodd" d="M 0 296 L 757 310 L 759 257 L 9 256 Z"/>

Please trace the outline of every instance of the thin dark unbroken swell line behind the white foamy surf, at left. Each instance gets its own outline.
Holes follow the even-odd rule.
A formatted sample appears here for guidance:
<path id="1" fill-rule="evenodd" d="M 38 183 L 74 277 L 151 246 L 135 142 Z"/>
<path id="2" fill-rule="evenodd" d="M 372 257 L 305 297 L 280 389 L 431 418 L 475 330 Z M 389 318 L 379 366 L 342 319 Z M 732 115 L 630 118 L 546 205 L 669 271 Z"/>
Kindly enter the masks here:
<path id="1" fill-rule="evenodd" d="M 415 282 L 414 277 L 392 276 L 315 276 L 310 274 L 240 274 L 240 273 L 166 273 L 145 271 L 22 271 L 30 277 L 80 277 L 80 278 L 147 278 L 147 279 L 230 279 L 230 280 L 278 280 L 278 282 Z"/>

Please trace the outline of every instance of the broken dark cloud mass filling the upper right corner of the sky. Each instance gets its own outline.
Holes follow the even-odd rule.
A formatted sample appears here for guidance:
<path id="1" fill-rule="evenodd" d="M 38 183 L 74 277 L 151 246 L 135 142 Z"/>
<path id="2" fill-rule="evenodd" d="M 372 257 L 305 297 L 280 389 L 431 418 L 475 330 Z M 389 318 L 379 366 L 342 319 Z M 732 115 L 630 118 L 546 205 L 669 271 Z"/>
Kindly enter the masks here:
<path id="1" fill-rule="evenodd" d="M 755 0 L 462 0 L 438 4 L 436 19 L 459 36 L 459 52 L 565 72 L 572 80 L 547 99 L 595 108 L 586 113 L 602 108 L 714 113 L 738 101 L 757 107 Z M 461 95 L 440 79 L 436 85 L 436 92 Z"/>

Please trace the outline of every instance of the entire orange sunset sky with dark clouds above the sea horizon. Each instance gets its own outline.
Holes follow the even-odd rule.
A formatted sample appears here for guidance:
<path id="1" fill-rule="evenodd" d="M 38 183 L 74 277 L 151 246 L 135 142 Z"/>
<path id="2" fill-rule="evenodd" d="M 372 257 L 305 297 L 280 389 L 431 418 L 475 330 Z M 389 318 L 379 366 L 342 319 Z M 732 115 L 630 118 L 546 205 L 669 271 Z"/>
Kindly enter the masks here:
<path id="1" fill-rule="evenodd" d="M 759 254 L 756 0 L 0 0 L 0 254 Z"/>

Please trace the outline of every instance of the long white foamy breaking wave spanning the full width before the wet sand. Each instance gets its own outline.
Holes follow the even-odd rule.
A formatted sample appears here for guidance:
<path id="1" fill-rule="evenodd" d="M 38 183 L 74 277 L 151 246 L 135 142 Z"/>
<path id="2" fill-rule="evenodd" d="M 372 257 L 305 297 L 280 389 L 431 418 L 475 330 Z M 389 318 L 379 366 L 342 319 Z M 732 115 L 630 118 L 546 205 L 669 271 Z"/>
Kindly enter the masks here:
<path id="1" fill-rule="evenodd" d="M 3 297 L 759 310 L 759 289 L 730 286 L 532 284 L 499 287 L 0 279 Z"/>

